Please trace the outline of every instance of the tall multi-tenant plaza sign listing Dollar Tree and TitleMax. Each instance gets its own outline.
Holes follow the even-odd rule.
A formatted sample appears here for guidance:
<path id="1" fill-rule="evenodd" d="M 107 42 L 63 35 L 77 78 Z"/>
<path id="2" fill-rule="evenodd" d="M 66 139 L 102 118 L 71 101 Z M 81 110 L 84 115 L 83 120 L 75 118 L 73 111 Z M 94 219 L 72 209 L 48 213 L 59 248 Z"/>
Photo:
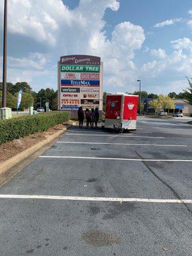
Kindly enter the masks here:
<path id="1" fill-rule="evenodd" d="M 89 55 L 61 56 L 58 62 L 58 109 L 79 106 L 102 110 L 103 63 Z"/>

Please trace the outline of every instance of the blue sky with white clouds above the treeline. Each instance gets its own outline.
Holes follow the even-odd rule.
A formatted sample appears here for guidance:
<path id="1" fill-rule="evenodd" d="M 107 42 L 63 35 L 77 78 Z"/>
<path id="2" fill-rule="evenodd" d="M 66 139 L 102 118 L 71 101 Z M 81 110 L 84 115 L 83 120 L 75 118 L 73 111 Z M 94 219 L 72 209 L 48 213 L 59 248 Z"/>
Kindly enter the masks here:
<path id="1" fill-rule="evenodd" d="M 192 1 L 8 0 L 8 82 L 56 90 L 68 54 L 100 56 L 106 92 L 134 92 L 138 79 L 148 93 L 182 92 L 192 77 Z"/>

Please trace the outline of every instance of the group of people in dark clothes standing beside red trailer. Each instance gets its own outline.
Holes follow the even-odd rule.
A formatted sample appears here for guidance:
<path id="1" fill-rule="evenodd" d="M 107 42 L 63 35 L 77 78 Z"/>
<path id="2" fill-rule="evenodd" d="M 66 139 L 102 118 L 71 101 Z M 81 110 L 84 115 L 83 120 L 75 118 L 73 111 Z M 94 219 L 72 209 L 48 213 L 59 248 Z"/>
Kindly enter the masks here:
<path id="1" fill-rule="evenodd" d="M 95 109 L 92 108 L 91 111 L 88 108 L 86 108 L 84 113 L 83 108 L 79 107 L 78 109 L 79 128 L 83 127 L 84 116 L 86 118 L 86 128 L 88 127 L 93 128 L 94 124 L 95 124 L 95 128 L 97 128 L 97 123 L 99 121 L 98 108 L 95 108 Z"/>

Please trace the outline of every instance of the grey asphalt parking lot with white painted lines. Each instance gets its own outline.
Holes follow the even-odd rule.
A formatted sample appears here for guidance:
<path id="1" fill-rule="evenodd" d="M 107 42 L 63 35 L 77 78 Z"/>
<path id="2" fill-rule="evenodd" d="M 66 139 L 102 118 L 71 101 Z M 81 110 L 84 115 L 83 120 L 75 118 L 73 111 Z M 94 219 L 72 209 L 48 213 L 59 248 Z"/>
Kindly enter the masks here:
<path id="1" fill-rule="evenodd" d="M 0 188 L 5 255 L 191 255 L 192 125 L 74 129 Z"/>

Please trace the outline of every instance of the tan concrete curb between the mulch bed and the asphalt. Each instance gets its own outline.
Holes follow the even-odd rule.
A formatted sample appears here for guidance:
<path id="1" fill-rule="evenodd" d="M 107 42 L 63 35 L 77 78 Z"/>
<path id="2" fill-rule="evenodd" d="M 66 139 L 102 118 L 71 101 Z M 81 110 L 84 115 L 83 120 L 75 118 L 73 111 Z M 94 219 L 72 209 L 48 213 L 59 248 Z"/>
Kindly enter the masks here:
<path id="1" fill-rule="evenodd" d="M 62 129 L 61 131 L 58 131 L 58 132 L 52 134 L 45 141 L 40 141 L 40 142 L 36 143 L 35 145 L 33 145 L 32 147 L 30 147 L 30 148 L 20 152 L 16 156 L 13 156 L 12 158 L 10 158 L 10 159 L 4 161 L 3 163 L 1 163 L 0 164 L 0 175 L 5 173 L 5 172 L 7 172 L 8 170 L 10 170 L 10 168 L 12 168 L 16 164 L 20 163 L 24 159 L 28 158 L 32 154 L 34 154 L 40 148 L 44 147 L 45 145 L 47 145 L 51 141 L 55 140 L 58 136 L 63 134 L 68 129 L 71 129 L 74 125 L 76 125 L 75 122 L 73 124 L 71 124 L 71 125 L 67 125 L 67 127 L 64 127 L 64 129 Z"/>

